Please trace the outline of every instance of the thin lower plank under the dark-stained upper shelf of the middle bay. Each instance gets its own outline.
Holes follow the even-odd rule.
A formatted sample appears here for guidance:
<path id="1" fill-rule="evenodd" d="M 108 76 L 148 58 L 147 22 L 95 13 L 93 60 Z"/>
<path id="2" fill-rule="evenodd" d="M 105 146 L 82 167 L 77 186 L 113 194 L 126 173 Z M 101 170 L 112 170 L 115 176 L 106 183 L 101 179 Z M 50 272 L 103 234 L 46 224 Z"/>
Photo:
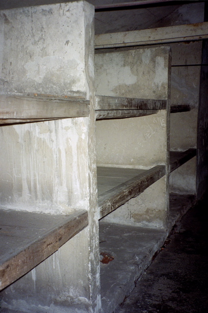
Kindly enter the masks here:
<path id="1" fill-rule="evenodd" d="M 158 110 L 96 110 L 96 119 L 139 117 L 157 112 Z"/>

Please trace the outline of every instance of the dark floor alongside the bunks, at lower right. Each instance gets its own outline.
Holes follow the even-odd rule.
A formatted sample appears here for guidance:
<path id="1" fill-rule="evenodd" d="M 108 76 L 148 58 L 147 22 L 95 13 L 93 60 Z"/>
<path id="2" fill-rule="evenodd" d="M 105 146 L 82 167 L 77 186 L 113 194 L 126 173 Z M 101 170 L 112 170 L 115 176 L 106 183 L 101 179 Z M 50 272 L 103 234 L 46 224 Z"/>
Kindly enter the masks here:
<path id="1" fill-rule="evenodd" d="M 208 197 L 183 217 L 116 313 L 208 312 Z"/>

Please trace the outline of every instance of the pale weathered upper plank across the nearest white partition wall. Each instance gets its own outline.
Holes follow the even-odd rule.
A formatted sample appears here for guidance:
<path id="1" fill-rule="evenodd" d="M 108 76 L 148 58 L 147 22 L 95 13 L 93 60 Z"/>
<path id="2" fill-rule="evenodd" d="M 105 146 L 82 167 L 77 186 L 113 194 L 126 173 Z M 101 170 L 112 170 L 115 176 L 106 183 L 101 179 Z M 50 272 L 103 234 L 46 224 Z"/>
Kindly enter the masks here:
<path id="1" fill-rule="evenodd" d="M 0 124 L 38 122 L 89 115 L 84 98 L 33 94 L 0 95 Z"/>

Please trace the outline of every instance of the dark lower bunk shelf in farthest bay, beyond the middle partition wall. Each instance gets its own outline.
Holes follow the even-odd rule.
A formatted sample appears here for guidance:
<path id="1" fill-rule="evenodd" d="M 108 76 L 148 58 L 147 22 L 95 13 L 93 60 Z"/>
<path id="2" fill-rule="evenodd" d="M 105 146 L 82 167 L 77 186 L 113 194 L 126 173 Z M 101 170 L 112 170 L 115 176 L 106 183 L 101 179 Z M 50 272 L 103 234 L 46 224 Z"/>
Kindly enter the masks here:
<path id="1" fill-rule="evenodd" d="M 186 151 L 170 151 L 169 171 L 172 172 L 192 157 L 196 156 L 196 149 L 190 148 Z"/>

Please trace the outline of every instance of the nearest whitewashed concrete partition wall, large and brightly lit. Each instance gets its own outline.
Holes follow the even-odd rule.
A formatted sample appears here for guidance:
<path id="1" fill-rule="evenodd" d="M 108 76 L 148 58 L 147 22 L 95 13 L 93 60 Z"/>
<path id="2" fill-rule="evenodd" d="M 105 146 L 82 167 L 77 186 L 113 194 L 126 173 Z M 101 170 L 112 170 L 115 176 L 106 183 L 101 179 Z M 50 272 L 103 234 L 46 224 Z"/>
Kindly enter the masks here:
<path id="1" fill-rule="evenodd" d="M 89 117 L 0 128 L 1 205 L 89 225 L 1 292 L 2 312 L 100 312 L 94 114 L 94 7 L 69 2 L 0 12 L 0 93 L 77 96 Z M 79 104 L 78 104 L 79 105 Z"/>

